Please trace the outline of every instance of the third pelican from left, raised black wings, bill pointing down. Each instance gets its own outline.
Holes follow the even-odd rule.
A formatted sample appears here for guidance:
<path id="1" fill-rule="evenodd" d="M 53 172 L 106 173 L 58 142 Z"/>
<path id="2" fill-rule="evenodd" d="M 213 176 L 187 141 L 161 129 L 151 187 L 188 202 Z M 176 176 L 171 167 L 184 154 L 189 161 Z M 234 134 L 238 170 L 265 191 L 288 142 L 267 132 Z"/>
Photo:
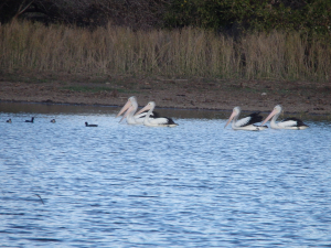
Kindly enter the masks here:
<path id="1" fill-rule="evenodd" d="M 241 107 L 234 107 L 228 121 L 226 122 L 225 127 L 232 121 L 232 129 L 234 130 L 248 130 L 248 131 L 259 131 L 265 130 L 268 128 L 267 126 L 257 126 L 255 123 L 260 122 L 263 117 L 259 116 L 259 112 L 253 112 L 249 116 L 244 117 L 243 119 L 238 120 L 241 115 Z"/>

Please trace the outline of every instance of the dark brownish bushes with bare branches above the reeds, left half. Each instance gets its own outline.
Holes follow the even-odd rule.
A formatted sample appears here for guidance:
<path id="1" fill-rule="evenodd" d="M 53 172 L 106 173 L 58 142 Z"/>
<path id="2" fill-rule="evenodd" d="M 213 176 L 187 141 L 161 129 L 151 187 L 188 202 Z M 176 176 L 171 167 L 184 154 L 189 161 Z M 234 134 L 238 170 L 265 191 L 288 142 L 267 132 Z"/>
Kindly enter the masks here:
<path id="1" fill-rule="evenodd" d="M 168 0 L 169 1 L 169 0 Z M 106 26 L 108 22 L 132 29 L 161 26 L 167 0 L 3 0 L 0 22 L 13 18 L 43 23 Z"/>

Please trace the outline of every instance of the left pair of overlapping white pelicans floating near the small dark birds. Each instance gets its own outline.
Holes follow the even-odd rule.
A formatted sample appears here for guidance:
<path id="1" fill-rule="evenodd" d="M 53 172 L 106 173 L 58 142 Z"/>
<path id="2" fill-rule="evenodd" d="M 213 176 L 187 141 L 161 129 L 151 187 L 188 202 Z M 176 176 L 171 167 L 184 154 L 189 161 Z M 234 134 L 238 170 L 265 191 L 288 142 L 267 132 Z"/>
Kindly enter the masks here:
<path id="1" fill-rule="evenodd" d="M 174 123 L 173 120 L 169 117 L 160 117 L 159 114 L 153 111 L 156 108 L 154 101 L 149 101 L 142 109 L 138 112 L 138 103 L 135 96 L 130 97 L 126 105 L 120 109 L 116 117 L 121 115 L 124 120 L 127 118 L 129 125 L 145 125 L 149 127 L 175 127 L 178 123 Z M 119 121 L 119 122 L 120 122 Z"/>

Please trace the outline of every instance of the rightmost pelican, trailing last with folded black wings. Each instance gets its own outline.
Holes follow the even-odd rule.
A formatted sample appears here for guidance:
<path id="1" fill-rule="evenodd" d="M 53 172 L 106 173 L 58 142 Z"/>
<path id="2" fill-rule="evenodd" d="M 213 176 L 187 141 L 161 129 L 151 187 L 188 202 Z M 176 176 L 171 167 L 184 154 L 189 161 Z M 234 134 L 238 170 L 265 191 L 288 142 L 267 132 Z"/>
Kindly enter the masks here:
<path id="1" fill-rule="evenodd" d="M 271 117 L 274 117 L 270 121 L 270 127 L 274 129 L 295 129 L 295 130 L 301 130 L 309 128 L 306 123 L 302 122 L 302 120 L 299 120 L 297 118 L 290 117 L 286 118 L 279 122 L 276 123 L 277 118 L 279 117 L 281 112 L 281 106 L 276 105 L 274 110 L 270 112 L 270 115 L 264 120 L 261 125 L 265 125 Z"/>

